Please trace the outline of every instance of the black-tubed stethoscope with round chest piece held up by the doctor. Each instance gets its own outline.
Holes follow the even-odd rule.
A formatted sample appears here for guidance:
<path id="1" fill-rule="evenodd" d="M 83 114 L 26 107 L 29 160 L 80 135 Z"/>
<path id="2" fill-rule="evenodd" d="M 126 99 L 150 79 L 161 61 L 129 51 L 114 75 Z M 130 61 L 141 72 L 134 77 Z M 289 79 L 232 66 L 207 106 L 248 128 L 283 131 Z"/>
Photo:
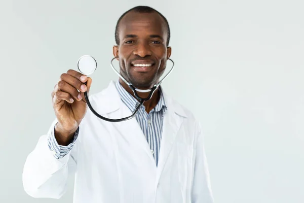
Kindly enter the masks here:
<path id="1" fill-rule="evenodd" d="M 171 67 L 171 70 L 164 76 L 164 78 L 162 80 L 160 80 L 157 84 L 155 84 L 151 89 L 137 89 L 135 88 L 131 83 L 129 83 L 116 69 L 115 67 L 113 66 L 113 60 L 116 59 L 118 57 L 114 57 L 112 58 L 111 60 L 111 67 L 113 69 L 113 71 L 131 88 L 131 90 L 133 91 L 135 97 L 139 100 L 139 104 L 137 105 L 137 107 L 135 108 L 135 110 L 133 111 L 132 115 L 131 116 L 128 116 L 128 117 L 125 117 L 125 118 L 120 118 L 120 119 L 110 119 L 110 118 L 106 118 L 106 117 L 103 117 L 101 115 L 99 115 L 95 110 L 94 108 L 92 107 L 91 103 L 90 103 L 90 100 L 89 100 L 89 96 L 88 96 L 88 93 L 87 91 L 84 92 L 85 94 L 85 98 L 86 98 L 86 101 L 87 101 L 87 104 L 88 104 L 88 107 L 90 108 L 90 110 L 92 111 L 92 113 L 97 116 L 98 118 L 102 119 L 102 120 L 105 120 L 105 121 L 109 121 L 109 122 L 121 122 L 121 121 L 126 121 L 126 120 L 129 120 L 131 118 L 133 118 L 138 109 L 143 105 L 144 101 L 146 100 L 149 100 L 155 90 L 157 90 L 157 88 L 161 85 L 161 83 L 165 80 L 165 78 L 167 78 L 169 76 L 169 74 L 172 72 L 173 68 L 174 68 L 174 62 L 172 59 L 168 58 L 168 60 L 170 60 L 172 62 L 172 67 Z M 82 57 L 80 57 L 80 59 L 78 60 L 78 63 L 77 63 L 77 66 L 78 66 L 78 70 L 88 76 L 88 75 L 91 75 L 92 73 L 94 73 L 94 71 L 97 69 L 97 62 L 95 60 L 94 57 L 90 56 L 90 55 L 84 55 Z M 85 82 L 85 84 L 87 84 L 87 82 Z M 150 92 L 149 95 L 146 97 L 146 98 L 141 98 L 137 92 Z"/>

